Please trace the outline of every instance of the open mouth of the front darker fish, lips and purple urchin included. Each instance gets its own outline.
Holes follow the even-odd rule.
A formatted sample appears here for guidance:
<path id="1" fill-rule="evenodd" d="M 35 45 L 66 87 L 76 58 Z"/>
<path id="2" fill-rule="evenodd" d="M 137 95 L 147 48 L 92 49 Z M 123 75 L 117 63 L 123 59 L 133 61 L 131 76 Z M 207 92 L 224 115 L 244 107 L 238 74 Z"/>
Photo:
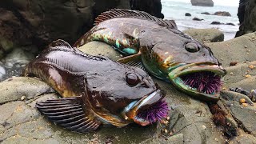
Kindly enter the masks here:
<path id="1" fill-rule="evenodd" d="M 147 126 L 166 118 L 169 108 L 161 90 L 155 90 L 138 101 L 131 102 L 122 111 L 126 120 L 134 121 L 141 126 Z"/>

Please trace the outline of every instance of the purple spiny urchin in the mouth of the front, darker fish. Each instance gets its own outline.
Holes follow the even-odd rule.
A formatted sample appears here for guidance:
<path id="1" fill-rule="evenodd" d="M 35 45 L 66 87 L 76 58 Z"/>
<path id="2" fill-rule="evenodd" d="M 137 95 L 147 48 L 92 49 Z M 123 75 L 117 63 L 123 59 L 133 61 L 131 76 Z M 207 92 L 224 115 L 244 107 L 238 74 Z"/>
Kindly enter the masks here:
<path id="1" fill-rule="evenodd" d="M 142 110 L 137 114 L 138 119 L 154 123 L 160 121 L 162 118 L 166 118 L 169 108 L 165 101 L 160 101 L 150 106 L 146 110 Z"/>

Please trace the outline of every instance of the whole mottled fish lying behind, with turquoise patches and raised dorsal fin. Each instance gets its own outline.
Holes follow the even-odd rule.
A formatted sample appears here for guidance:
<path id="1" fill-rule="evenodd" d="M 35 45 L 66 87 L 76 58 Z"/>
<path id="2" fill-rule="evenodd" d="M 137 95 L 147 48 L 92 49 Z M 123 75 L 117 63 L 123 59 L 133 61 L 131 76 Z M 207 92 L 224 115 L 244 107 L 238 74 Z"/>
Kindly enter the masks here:
<path id="1" fill-rule="evenodd" d="M 138 55 L 142 65 L 155 77 L 173 83 L 194 98 L 218 100 L 220 78 L 226 70 L 209 47 L 182 33 L 174 21 L 142 11 L 114 9 L 100 14 L 95 24 L 74 46 L 106 42 L 127 56 L 119 62 L 126 63 Z M 195 82 L 195 78 L 199 81 Z"/>

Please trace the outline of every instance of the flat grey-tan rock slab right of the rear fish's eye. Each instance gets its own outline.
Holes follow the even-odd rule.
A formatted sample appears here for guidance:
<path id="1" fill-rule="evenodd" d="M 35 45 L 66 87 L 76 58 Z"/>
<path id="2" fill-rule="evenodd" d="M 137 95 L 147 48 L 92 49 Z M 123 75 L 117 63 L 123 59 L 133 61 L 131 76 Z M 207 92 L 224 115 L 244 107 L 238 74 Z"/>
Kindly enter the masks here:
<path id="1" fill-rule="evenodd" d="M 256 60 L 256 33 L 230 39 L 225 42 L 206 43 L 214 52 L 222 66 L 230 66 L 230 62 L 253 62 Z"/>

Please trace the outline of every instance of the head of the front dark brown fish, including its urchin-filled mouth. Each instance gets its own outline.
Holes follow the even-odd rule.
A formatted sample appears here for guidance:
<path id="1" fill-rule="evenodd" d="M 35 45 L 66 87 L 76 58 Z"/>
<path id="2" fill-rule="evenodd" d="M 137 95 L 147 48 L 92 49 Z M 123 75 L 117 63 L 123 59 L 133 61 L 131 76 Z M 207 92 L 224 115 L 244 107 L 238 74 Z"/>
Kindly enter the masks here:
<path id="1" fill-rule="evenodd" d="M 90 103 L 103 121 L 114 126 L 130 122 L 146 126 L 166 117 L 165 94 L 144 70 L 122 64 L 109 68 L 90 90 L 94 93 Z"/>

